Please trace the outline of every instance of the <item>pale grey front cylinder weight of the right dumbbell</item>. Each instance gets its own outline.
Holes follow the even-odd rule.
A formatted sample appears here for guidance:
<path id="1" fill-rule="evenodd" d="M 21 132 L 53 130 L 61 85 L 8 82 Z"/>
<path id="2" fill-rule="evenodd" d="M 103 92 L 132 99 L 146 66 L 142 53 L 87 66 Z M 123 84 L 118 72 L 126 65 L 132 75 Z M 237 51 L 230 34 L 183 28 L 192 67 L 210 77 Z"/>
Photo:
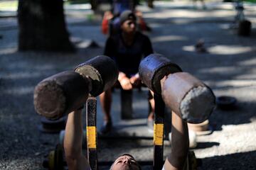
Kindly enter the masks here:
<path id="1" fill-rule="evenodd" d="M 215 108 L 213 91 L 191 74 L 169 74 L 161 86 L 164 103 L 188 123 L 202 123 Z"/>

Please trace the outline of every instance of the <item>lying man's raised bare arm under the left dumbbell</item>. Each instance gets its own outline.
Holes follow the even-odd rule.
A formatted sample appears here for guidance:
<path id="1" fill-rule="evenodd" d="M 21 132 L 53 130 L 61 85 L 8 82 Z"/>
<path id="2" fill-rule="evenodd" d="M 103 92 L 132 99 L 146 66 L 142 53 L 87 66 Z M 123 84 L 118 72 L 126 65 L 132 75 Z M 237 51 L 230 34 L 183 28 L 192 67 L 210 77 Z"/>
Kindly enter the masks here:
<path id="1" fill-rule="evenodd" d="M 68 114 L 64 138 L 65 159 L 70 170 L 90 170 L 82 154 L 82 110 Z"/>

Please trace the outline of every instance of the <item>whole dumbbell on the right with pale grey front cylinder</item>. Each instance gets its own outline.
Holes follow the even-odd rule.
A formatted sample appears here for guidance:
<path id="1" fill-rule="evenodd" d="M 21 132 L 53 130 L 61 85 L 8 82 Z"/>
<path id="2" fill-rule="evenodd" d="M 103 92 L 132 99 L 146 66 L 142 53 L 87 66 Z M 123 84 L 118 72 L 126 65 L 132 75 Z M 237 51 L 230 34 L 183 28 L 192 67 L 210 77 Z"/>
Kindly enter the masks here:
<path id="1" fill-rule="evenodd" d="M 139 65 L 146 86 L 161 96 L 172 111 L 188 123 L 202 123 L 215 108 L 213 91 L 162 55 L 149 55 Z"/>

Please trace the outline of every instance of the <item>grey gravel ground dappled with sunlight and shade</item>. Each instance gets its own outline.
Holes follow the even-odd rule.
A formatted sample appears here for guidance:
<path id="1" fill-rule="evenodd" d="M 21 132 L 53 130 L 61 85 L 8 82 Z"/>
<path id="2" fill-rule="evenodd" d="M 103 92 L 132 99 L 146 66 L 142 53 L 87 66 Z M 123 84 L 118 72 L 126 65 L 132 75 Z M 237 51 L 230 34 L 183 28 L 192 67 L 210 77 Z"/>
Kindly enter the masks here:
<path id="1" fill-rule="evenodd" d="M 139 8 L 153 28 L 148 35 L 155 52 L 203 80 L 216 96 L 238 99 L 232 111 L 217 108 L 210 117 L 215 131 L 198 137 L 194 151 L 203 161 L 200 169 L 255 169 L 256 7 L 245 6 L 245 14 L 252 21 L 252 35 L 245 38 L 230 28 L 235 16 L 232 4 L 206 5 L 207 10 L 195 10 L 188 3 L 157 1 L 153 10 Z M 33 109 L 34 87 L 52 74 L 102 54 L 105 36 L 100 33 L 100 22 L 88 20 L 85 15 L 90 11 L 86 8 L 69 8 L 66 13 L 68 30 L 79 47 L 76 54 L 17 52 L 16 18 L 0 18 L 0 169 L 43 169 L 43 156 L 55 147 L 58 135 L 38 131 L 40 117 Z M 194 50 L 201 38 L 208 53 Z M 101 47 L 86 48 L 88 40 L 95 40 Z M 114 113 L 118 112 L 117 106 L 113 106 Z M 135 110 L 138 108 L 135 106 Z M 100 125 L 102 113 L 100 108 L 98 111 Z M 168 146 L 166 142 L 165 152 Z M 139 160 L 152 159 L 151 141 L 99 141 L 99 147 L 99 157 L 105 161 L 123 152 Z"/>

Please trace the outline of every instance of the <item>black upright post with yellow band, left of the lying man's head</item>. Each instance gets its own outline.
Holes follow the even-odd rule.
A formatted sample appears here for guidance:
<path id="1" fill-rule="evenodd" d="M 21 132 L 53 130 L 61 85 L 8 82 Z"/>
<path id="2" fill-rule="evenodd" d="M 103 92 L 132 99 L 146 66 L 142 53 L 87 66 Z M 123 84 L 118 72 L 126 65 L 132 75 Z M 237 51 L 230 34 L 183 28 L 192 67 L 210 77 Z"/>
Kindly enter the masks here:
<path id="1" fill-rule="evenodd" d="M 97 98 L 90 96 L 86 102 L 87 159 L 92 170 L 97 170 Z"/>

